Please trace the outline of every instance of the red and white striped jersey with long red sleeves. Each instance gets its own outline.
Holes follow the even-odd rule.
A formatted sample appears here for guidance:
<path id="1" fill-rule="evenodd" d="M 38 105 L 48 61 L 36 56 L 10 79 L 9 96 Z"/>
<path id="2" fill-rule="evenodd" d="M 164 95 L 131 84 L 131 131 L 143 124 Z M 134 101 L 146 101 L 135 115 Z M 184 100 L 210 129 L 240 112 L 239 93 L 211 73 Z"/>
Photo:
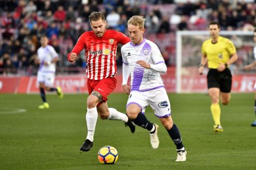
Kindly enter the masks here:
<path id="1" fill-rule="evenodd" d="M 117 45 L 129 41 L 129 37 L 114 30 L 106 30 L 101 38 L 98 38 L 93 31 L 87 31 L 80 36 L 72 52 L 78 55 L 82 49 L 85 49 L 87 78 L 98 80 L 116 75 Z M 67 55 L 68 60 L 69 55 Z"/>

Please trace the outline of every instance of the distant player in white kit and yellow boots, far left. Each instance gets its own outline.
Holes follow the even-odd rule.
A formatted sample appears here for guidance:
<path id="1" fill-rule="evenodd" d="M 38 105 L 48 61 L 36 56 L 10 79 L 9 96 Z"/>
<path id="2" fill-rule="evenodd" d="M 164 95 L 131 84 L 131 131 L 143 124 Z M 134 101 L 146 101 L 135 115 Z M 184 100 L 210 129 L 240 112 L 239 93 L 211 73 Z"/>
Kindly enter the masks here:
<path id="1" fill-rule="evenodd" d="M 43 100 L 43 104 L 39 105 L 38 108 L 49 108 L 49 104 L 46 102 L 46 91 L 56 91 L 60 98 L 63 97 L 61 87 L 54 87 L 56 63 L 59 61 L 59 55 L 54 50 L 53 46 L 48 45 L 48 38 L 41 36 L 40 39 L 41 47 L 37 50 L 36 63 L 40 64 L 37 73 L 37 82 L 40 88 L 40 96 Z"/>

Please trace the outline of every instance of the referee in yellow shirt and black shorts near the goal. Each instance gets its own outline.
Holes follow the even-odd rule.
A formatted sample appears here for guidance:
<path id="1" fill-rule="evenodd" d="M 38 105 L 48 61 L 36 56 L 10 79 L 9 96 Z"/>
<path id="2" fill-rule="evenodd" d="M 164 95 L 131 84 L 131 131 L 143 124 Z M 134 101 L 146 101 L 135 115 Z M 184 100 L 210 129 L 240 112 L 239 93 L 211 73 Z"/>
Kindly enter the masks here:
<path id="1" fill-rule="evenodd" d="M 211 97 L 211 114 L 215 125 L 215 132 L 223 132 L 220 123 L 220 98 L 223 105 L 228 105 L 231 97 L 232 75 L 229 65 L 236 62 L 236 47 L 229 39 L 220 36 L 220 25 L 210 22 L 208 25 L 211 39 L 207 39 L 202 45 L 202 59 L 199 65 L 199 74 L 202 75 L 203 68 L 208 64 L 207 84 L 208 93 Z"/>

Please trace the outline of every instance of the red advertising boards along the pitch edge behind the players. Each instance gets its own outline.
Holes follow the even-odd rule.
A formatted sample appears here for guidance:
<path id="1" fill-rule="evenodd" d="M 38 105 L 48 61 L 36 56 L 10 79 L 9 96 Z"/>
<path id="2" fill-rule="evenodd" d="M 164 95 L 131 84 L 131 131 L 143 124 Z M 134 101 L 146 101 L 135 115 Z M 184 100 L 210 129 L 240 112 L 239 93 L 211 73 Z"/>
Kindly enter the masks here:
<path id="1" fill-rule="evenodd" d="M 167 92 L 176 92 L 176 77 L 174 71 L 161 75 Z M 122 75 L 117 75 L 117 86 L 114 92 L 122 91 Z M 233 76 L 232 92 L 254 92 L 256 76 Z M 182 92 L 207 92 L 207 79 L 205 75 L 182 76 Z M 56 76 L 54 86 L 61 86 L 64 93 L 88 93 L 87 78 L 84 75 Z M 0 93 L 38 93 L 36 76 L 8 77 L 0 76 Z"/>

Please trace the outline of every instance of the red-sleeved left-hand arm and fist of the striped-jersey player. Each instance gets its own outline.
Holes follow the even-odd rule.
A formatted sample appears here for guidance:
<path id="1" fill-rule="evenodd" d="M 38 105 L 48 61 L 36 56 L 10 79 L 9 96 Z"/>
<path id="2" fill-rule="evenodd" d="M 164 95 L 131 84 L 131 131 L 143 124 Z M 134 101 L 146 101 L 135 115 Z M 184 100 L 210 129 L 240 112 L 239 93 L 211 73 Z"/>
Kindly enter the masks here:
<path id="1" fill-rule="evenodd" d="M 85 34 L 83 33 L 79 39 L 77 40 L 77 44 L 75 44 L 72 51 L 67 55 L 67 60 L 69 62 L 74 62 L 77 59 L 77 55 L 82 51 L 85 47 Z"/>

